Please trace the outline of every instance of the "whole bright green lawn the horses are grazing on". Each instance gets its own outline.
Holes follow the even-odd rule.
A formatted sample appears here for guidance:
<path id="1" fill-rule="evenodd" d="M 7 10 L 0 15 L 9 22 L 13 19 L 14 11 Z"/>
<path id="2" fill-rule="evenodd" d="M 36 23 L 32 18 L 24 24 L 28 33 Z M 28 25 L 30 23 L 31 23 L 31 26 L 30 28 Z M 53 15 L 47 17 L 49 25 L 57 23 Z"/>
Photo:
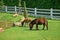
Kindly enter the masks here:
<path id="1" fill-rule="evenodd" d="M 21 15 L 18 17 L 13 17 L 12 15 L 13 14 L 0 13 L 0 26 L 1 22 L 4 24 L 4 21 L 7 20 L 8 23 L 19 21 L 19 18 L 23 17 Z M 48 20 L 48 23 L 48 30 L 41 30 L 42 25 L 39 25 L 39 30 L 35 30 L 35 27 L 33 30 L 29 30 L 29 26 L 10 27 L 5 29 L 4 32 L 0 32 L 0 40 L 60 40 L 60 21 Z"/>

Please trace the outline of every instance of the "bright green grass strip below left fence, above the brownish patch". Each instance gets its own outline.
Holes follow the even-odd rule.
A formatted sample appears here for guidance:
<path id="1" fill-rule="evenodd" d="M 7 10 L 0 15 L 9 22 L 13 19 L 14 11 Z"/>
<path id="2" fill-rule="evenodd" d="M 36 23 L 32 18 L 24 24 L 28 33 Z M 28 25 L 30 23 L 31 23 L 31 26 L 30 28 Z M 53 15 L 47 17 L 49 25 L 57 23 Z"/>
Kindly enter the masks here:
<path id="1" fill-rule="evenodd" d="M 0 20 L 3 20 L 3 21 L 18 21 L 20 20 L 21 17 L 22 17 L 21 15 L 14 17 L 13 14 L 0 13 Z"/>

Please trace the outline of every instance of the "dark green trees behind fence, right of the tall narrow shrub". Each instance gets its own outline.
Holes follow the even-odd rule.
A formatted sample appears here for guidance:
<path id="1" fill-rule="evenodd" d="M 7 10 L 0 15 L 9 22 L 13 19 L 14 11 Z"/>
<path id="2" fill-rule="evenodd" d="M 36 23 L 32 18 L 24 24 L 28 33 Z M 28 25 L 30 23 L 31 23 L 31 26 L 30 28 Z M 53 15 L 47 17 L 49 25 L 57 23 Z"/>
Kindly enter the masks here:
<path id="1" fill-rule="evenodd" d="M 24 0 L 22 0 L 23 2 Z M 27 7 L 60 9 L 60 0 L 25 0 Z M 22 3 L 23 6 L 23 3 Z"/>

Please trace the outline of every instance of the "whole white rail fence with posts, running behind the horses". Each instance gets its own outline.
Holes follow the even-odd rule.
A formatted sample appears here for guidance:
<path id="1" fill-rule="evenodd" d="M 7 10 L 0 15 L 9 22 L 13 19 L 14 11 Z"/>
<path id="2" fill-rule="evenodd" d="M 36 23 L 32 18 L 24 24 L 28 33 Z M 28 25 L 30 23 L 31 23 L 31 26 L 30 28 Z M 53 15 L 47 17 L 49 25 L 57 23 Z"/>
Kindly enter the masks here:
<path id="1" fill-rule="evenodd" d="M 58 9 L 37 9 L 37 8 L 27 8 L 28 13 L 32 16 L 42 16 L 51 19 L 60 19 L 60 10 Z M 2 10 L 0 7 L 0 12 L 9 12 L 16 13 L 19 11 L 19 7 L 17 6 L 5 6 Z M 24 8 L 21 7 L 21 12 L 24 12 Z"/>

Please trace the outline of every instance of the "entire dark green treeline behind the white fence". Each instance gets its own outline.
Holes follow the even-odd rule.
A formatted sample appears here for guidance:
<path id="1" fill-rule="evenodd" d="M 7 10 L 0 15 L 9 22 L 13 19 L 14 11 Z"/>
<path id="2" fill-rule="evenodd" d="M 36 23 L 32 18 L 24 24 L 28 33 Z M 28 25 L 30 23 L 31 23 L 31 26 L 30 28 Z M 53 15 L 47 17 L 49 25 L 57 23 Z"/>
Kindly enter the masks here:
<path id="1" fill-rule="evenodd" d="M 0 0 L 1 1 L 1 0 Z M 18 6 L 19 0 L 3 0 L 4 5 L 7 6 Z M 30 8 L 54 8 L 60 9 L 60 0 L 21 0 L 21 6 L 23 1 L 26 2 L 26 6 Z"/>

